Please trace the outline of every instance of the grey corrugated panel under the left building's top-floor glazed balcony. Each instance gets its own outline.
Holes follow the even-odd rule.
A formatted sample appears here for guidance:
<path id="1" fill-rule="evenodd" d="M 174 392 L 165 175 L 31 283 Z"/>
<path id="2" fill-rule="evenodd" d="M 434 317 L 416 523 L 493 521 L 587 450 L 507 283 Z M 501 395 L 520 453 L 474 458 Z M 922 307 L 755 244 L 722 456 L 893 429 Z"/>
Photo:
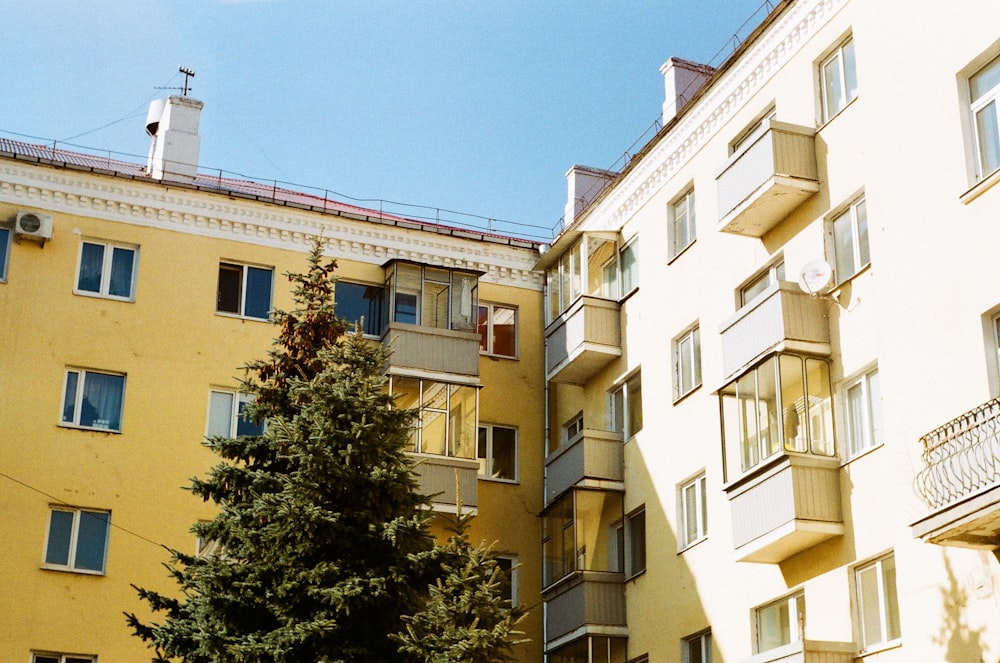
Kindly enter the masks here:
<path id="1" fill-rule="evenodd" d="M 479 377 L 479 334 L 392 322 L 382 334 L 391 368 Z"/>

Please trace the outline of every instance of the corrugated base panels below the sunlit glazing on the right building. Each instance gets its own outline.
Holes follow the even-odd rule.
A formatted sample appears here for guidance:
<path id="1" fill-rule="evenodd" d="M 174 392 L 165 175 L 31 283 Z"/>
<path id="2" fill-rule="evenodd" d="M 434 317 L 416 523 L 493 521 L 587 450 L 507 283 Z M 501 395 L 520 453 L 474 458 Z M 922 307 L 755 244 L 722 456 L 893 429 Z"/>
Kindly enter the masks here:
<path id="1" fill-rule="evenodd" d="M 777 564 L 844 533 L 837 458 L 779 456 L 725 491 L 738 561 Z"/>

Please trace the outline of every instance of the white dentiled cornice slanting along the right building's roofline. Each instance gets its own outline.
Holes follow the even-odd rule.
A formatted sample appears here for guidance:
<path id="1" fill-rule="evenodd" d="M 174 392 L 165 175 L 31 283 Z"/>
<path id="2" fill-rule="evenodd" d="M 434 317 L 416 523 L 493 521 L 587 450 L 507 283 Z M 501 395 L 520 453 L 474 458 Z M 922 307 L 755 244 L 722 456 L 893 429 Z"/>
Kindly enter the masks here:
<path id="1" fill-rule="evenodd" d="M 649 154 L 586 213 L 579 229 L 619 230 L 848 1 L 798 0 L 792 4 Z"/>

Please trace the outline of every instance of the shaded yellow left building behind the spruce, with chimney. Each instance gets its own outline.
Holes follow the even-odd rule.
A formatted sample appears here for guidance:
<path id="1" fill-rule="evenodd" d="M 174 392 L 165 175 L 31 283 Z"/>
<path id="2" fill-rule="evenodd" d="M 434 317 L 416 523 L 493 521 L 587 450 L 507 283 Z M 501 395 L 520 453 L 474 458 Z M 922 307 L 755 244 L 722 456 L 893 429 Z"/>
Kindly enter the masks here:
<path id="1" fill-rule="evenodd" d="M 199 175 L 200 110 L 154 102 L 146 164 L 0 141 L 0 661 L 149 660 L 132 585 L 176 591 L 163 546 L 201 545 L 211 505 L 183 487 L 217 461 L 206 434 L 252 430 L 239 367 L 316 236 L 338 311 L 393 343 L 392 389 L 422 410 L 422 489 L 476 510 L 529 609 L 519 659 L 541 661 L 537 243 Z"/>

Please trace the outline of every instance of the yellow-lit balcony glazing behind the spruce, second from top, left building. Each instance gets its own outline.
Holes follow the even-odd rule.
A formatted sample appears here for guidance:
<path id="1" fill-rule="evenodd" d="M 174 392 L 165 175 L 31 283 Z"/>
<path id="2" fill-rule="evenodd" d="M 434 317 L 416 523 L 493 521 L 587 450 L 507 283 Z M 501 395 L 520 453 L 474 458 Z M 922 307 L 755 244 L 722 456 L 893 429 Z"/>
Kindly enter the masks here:
<path id="1" fill-rule="evenodd" d="M 478 392 L 475 387 L 393 375 L 389 391 L 400 408 L 420 411 L 408 451 L 476 457 Z"/>

